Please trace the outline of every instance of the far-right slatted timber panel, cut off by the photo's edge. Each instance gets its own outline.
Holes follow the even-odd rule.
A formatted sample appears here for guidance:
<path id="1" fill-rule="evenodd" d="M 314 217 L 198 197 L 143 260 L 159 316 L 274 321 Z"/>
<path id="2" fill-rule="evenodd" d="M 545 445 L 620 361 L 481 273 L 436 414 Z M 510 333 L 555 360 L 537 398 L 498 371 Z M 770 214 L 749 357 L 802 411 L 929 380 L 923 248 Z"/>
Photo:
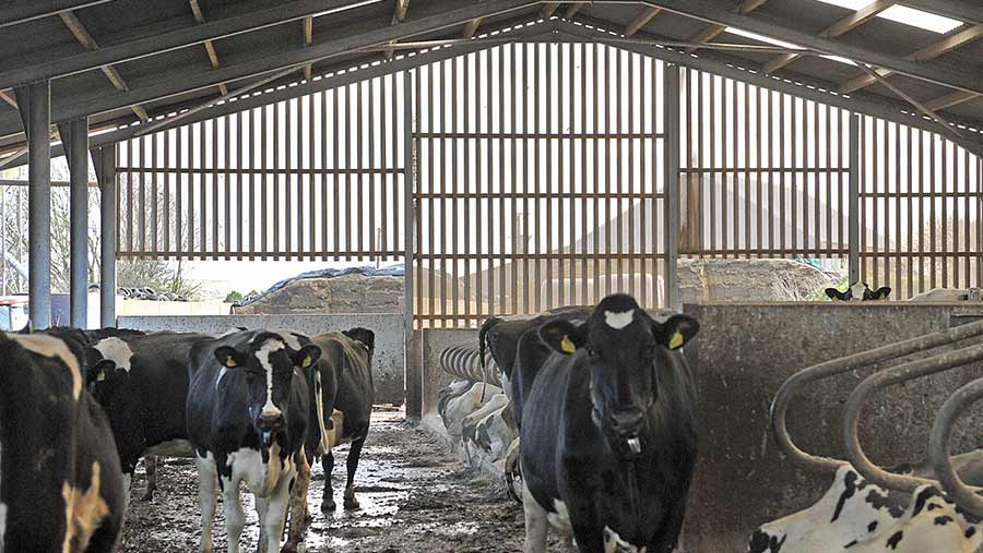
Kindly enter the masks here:
<path id="1" fill-rule="evenodd" d="M 910 298 L 983 286 L 983 166 L 939 134 L 861 118 L 861 275 Z"/>

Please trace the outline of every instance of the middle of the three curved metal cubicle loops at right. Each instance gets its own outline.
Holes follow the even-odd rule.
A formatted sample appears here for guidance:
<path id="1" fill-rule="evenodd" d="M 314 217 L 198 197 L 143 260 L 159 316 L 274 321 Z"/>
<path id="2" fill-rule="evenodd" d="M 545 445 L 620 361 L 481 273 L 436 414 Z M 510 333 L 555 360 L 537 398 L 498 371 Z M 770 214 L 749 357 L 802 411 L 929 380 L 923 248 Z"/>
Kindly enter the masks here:
<path id="1" fill-rule="evenodd" d="M 846 445 L 846 457 L 850 459 L 853 468 L 875 484 L 892 490 L 911 493 L 920 485 L 939 485 L 939 482 L 936 480 L 897 474 L 874 465 L 866 453 L 864 453 L 860 443 L 860 436 L 857 435 L 860 416 L 863 411 L 864 402 L 872 394 L 879 389 L 963 366 L 980 360 L 983 360 L 983 345 L 971 346 L 955 351 L 945 351 L 927 359 L 920 359 L 917 361 L 879 371 L 864 378 L 864 381 L 854 388 L 853 393 L 850 394 L 850 398 L 846 400 L 846 406 L 843 409 L 843 442 Z M 949 429 L 949 431 L 951 431 L 951 429 Z"/>

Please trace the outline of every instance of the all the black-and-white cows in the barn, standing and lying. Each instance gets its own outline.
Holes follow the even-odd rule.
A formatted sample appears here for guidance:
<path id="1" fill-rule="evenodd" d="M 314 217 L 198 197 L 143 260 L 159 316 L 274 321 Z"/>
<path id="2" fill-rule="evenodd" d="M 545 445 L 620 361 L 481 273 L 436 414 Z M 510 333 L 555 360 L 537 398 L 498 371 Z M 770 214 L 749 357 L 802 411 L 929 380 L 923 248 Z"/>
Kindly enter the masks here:
<path id="1" fill-rule="evenodd" d="M 889 292 L 862 285 L 837 293 Z M 682 349 L 699 328 L 626 294 L 484 323 L 479 358 L 487 350 L 502 386 L 455 382 L 441 390 L 438 410 L 469 457 L 502 469 L 523 505 L 525 553 L 546 551 L 550 527 L 582 553 L 683 550 L 699 424 Z M 228 551 L 239 551 L 241 484 L 256 497 L 259 551 L 297 551 L 311 517 L 310 462 L 321 459 L 321 510 L 332 512 L 332 450 L 344 442 L 352 444 L 344 507 L 358 508 L 374 347 L 365 328 L 315 337 L 244 328 L 0 333 L 0 553 L 115 551 L 137 464 L 147 459 L 152 493 L 156 456 L 194 458 L 200 551 L 214 549 L 220 494 Z M 983 520 L 935 488 L 900 494 L 849 466 L 813 506 L 753 529 L 747 546 L 981 550 Z"/>

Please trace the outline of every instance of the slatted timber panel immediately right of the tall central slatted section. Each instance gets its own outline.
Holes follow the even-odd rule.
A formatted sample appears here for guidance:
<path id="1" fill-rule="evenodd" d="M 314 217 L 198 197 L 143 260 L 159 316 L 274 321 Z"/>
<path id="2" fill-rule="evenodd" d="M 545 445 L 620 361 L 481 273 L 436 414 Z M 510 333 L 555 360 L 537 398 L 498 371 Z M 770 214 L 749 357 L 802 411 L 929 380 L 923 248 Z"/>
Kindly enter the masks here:
<path id="1" fill-rule="evenodd" d="M 848 112 L 683 75 L 680 255 L 846 259 Z"/>

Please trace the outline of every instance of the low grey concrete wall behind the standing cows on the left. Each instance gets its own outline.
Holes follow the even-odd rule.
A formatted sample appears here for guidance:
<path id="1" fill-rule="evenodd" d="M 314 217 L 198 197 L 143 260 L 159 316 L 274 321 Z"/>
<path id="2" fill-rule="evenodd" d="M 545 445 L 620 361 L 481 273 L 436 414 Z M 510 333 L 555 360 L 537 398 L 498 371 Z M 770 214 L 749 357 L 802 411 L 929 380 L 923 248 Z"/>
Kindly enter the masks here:
<path id="1" fill-rule="evenodd" d="M 225 332 L 234 326 L 287 328 L 309 336 L 362 326 L 376 333 L 372 357 L 376 402 L 402 405 L 405 397 L 402 314 L 121 316 L 119 326 L 139 330 L 201 333 Z"/>

